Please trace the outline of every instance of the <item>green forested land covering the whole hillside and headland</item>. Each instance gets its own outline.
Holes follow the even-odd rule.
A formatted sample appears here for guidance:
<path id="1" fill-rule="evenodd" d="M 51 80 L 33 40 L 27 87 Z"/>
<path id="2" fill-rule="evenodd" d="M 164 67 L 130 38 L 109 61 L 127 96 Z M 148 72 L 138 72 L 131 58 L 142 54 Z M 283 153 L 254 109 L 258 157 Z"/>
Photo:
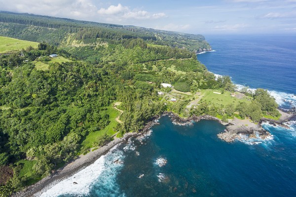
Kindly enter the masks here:
<path id="1" fill-rule="evenodd" d="M 227 102 L 197 100 L 213 90 L 230 98 L 235 89 L 229 77 L 216 79 L 196 60 L 196 50 L 210 48 L 204 37 L 134 30 L 0 13 L 0 36 L 39 42 L 0 55 L 0 196 L 36 183 L 113 136 L 141 131 L 165 111 L 225 121 L 279 116 L 263 89 Z M 177 102 L 170 101 L 173 97 Z M 120 122 L 115 102 L 121 103 Z"/>

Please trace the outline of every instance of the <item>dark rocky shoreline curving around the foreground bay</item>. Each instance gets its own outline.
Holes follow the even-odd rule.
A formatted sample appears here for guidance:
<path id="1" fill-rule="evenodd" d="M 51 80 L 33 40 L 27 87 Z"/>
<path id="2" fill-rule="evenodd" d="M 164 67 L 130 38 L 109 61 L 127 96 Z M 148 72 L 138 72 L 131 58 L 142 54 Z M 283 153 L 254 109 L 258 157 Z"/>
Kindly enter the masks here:
<path id="1" fill-rule="evenodd" d="M 226 126 L 226 129 L 224 130 L 224 132 L 218 134 L 218 137 L 223 141 L 233 142 L 236 139 L 237 135 L 239 135 L 239 134 L 251 135 L 252 133 L 254 133 L 254 131 L 259 131 L 261 134 L 265 134 L 266 138 L 267 138 L 271 134 L 262 128 L 262 126 L 261 126 L 262 122 L 269 121 L 269 122 L 272 122 L 272 123 L 277 124 L 279 126 L 283 126 L 283 127 L 287 128 L 288 126 L 284 125 L 283 123 L 290 121 L 296 115 L 291 115 L 288 120 L 287 119 L 286 120 L 272 120 L 272 119 L 267 119 L 267 118 L 261 118 L 261 120 L 259 121 L 259 124 L 257 125 L 259 130 L 254 129 L 252 126 L 249 126 L 249 127 L 242 126 L 242 127 L 238 127 L 235 130 L 229 131 L 229 130 L 227 130 L 227 127 L 233 125 L 232 122 L 226 123 L 226 122 L 223 122 L 221 119 L 210 116 L 210 115 L 181 118 L 173 112 L 164 112 L 160 116 L 155 116 L 155 117 L 151 118 L 151 120 L 148 121 L 148 123 L 145 125 L 145 127 L 141 131 L 139 131 L 137 133 L 125 133 L 122 138 L 115 138 L 114 140 L 109 142 L 107 145 L 104 145 L 95 151 L 91 151 L 91 152 L 87 153 L 86 155 L 80 155 L 78 158 L 73 159 L 73 161 L 69 162 L 64 167 L 56 170 L 53 174 L 50 174 L 50 175 L 46 176 L 45 178 L 41 179 L 40 181 L 38 181 L 37 183 L 35 183 L 34 185 L 31 185 L 31 186 L 25 188 L 24 190 L 22 190 L 18 193 L 15 193 L 14 195 L 12 195 L 12 197 L 33 197 L 33 196 L 36 197 L 36 196 L 41 195 L 43 192 L 50 189 L 53 185 L 58 184 L 59 182 L 73 176 L 75 173 L 81 171 L 85 167 L 94 163 L 101 156 L 106 155 L 114 146 L 116 146 L 120 143 L 127 143 L 128 139 L 131 137 L 145 135 L 145 133 L 147 133 L 153 125 L 158 124 L 157 120 L 163 116 L 169 116 L 169 118 L 171 118 L 171 121 L 174 124 L 178 124 L 178 125 L 188 125 L 188 124 L 191 124 L 193 121 L 198 122 L 202 119 L 216 120 L 219 123 Z M 252 137 L 254 137 L 254 135 Z"/>

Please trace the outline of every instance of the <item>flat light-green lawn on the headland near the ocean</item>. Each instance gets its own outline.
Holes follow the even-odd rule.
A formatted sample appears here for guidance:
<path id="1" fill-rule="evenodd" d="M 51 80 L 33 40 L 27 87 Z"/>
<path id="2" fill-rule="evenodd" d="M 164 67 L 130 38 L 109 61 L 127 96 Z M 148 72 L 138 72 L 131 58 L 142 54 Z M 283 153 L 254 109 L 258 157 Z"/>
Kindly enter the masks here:
<path id="1" fill-rule="evenodd" d="M 211 102 L 214 104 L 219 104 L 219 105 L 229 105 L 234 103 L 234 105 L 237 105 L 241 101 L 246 101 L 249 102 L 248 99 L 238 99 L 235 97 L 230 96 L 230 92 L 224 91 L 223 94 L 216 94 L 214 92 L 221 92 L 219 90 L 212 90 L 212 89 L 206 89 L 206 90 L 201 90 L 202 94 L 202 101 L 206 102 Z"/>

